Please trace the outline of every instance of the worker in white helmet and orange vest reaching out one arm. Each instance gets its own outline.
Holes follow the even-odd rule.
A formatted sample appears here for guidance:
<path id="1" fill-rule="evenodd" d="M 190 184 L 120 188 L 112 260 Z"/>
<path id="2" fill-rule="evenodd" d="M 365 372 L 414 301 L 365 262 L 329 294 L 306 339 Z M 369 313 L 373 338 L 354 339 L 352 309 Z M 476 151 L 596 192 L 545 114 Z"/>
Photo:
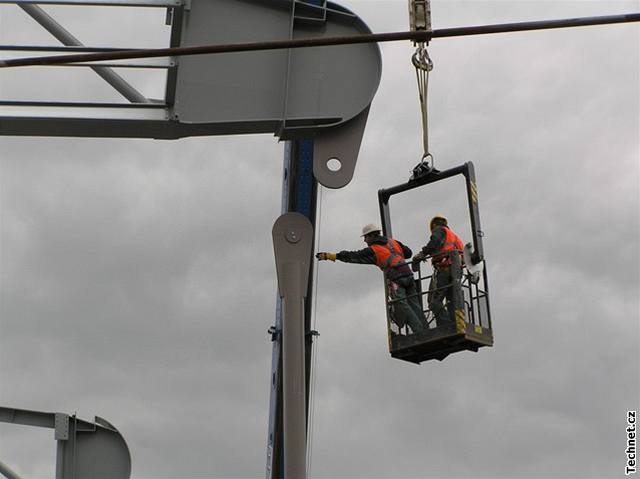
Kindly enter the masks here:
<path id="1" fill-rule="evenodd" d="M 344 263 L 375 264 L 388 280 L 391 297 L 394 301 L 394 322 L 402 327 L 408 324 L 414 333 L 428 328 L 416 289 L 413 273 L 405 263 L 411 258 L 411 249 L 393 238 L 382 236 L 381 228 L 368 224 L 362 228 L 362 237 L 367 247 L 358 251 L 340 251 L 339 253 L 318 253 L 320 261 L 342 261 Z"/>

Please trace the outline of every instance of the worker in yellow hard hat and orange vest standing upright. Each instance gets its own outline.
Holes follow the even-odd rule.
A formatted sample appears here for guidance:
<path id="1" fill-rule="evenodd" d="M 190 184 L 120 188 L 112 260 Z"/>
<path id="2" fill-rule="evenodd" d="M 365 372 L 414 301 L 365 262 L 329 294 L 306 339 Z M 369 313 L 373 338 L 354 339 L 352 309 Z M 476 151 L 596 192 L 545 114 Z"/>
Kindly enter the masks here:
<path id="1" fill-rule="evenodd" d="M 460 237 L 449 228 L 447 218 L 436 215 L 429 222 L 431 237 L 420 253 L 413 257 L 414 262 L 420 262 L 431 257 L 434 273 L 429 285 L 427 301 L 429 309 L 436 318 L 438 327 L 454 322 L 455 309 L 460 307 L 462 290 L 462 253 L 464 243 Z M 456 261 L 459 267 L 453 267 Z M 444 300 L 447 300 L 447 307 Z M 456 304 L 457 303 L 457 304 Z M 447 311 L 448 309 L 448 311 Z"/>

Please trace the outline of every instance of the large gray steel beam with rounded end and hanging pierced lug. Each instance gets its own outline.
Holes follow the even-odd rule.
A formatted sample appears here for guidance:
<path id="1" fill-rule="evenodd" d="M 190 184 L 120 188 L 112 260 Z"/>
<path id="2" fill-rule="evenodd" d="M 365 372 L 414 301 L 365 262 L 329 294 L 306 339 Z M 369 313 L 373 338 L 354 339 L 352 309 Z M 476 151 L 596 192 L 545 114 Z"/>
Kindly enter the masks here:
<path id="1" fill-rule="evenodd" d="M 184 53 L 185 48 L 221 42 L 263 45 L 266 41 L 273 46 L 275 41 L 283 46 L 279 39 L 315 40 L 317 36 L 335 35 L 344 38 L 371 32 L 347 9 L 325 0 L 319 1 L 319 5 L 313 3 L 315 0 L 190 0 L 169 9 L 172 48 L 164 51 Z M 255 28 L 234 27 L 247 24 Z M 247 43 L 241 45 L 245 48 Z M 99 54 L 107 53 L 128 56 L 131 52 Z M 147 57 L 147 53 L 145 50 L 140 58 Z M 173 57 L 171 53 L 166 56 Z M 30 61 L 34 58 L 30 56 Z M 49 63 L 60 57 L 44 58 Z M 86 61 L 82 63 L 115 60 L 84 58 Z M 23 61 L 0 58 L 0 68 Z M 135 115 L 122 110 L 126 115 L 119 117 L 117 111 L 105 112 L 100 104 L 95 105 L 96 113 L 87 110 L 82 114 L 75 105 L 50 103 L 45 112 L 31 104 L 34 108 L 30 113 L 26 103 L 6 107 L 0 103 L 0 135 L 174 139 L 275 133 L 281 140 L 313 138 L 316 178 L 329 188 L 340 188 L 349 182 L 362 139 L 365 112 L 381 76 L 381 55 L 376 44 L 262 52 L 246 57 L 219 55 L 206 60 L 181 57 L 175 63 L 176 66 L 168 67 L 163 111 L 138 117 L 139 110 Z M 255 71 L 261 72 L 259 88 L 255 84 Z M 146 105 L 158 104 L 132 106 Z M 78 115 L 70 116 L 73 113 Z M 165 116 L 157 118 L 158 113 Z M 103 117 L 106 119 L 102 120 Z M 332 167 L 334 159 L 340 161 L 338 170 Z"/>

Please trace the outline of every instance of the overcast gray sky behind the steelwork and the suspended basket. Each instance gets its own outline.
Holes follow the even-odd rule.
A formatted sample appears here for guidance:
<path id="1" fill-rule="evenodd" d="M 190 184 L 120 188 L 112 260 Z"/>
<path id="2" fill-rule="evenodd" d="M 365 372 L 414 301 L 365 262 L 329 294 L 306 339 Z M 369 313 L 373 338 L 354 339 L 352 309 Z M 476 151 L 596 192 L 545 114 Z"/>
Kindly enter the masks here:
<path id="1" fill-rule="evenodd" d="M 407 29 L 405 1 L 340 3 L 374 32 Z M 162 12 L 47 11 L 86 44 L 166 42 Z M 434 28 L 638 11 L 432 2 Z M 18 43 L 55 44 L 1 5 L 0 44 Z M 354 179 L 321 192 L 319 250 L 361 248 L 377 190 L 421 156 L 412 47 L 381 49 Z M 320 264 L 311 478 L 624 477 L 640 406 L 639 49 L 638 24 L 432 42 L 431 150 L 441 169 L 476 166 L 495 346 L 392 359 L 380 274 Z M 0 97 L 117 98 L 60 70 L 1 71 Z M 157 75 L 130 78 L 162 95 Z M 264 477 L 282 159 L 271 135 L 0 137 L 0 405 L 106 418 L 135 479 Z M 443 213 L 469 240 L 457 186 L 394 199 L 396 237 L 419 248 Z M 0 460 L 52 478 L 53 432 L 0 424 Z"/>

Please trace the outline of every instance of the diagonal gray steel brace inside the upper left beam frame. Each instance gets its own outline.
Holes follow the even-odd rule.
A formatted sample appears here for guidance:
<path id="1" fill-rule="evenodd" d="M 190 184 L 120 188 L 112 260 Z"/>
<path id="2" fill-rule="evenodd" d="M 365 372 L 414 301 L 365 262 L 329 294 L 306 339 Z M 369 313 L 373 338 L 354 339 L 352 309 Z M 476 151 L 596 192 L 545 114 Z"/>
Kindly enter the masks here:
<path id="1" fill-rule="evenodd" d="M 18 4 L 18 6 L 38 22 L 44 29 L 51 33 L 51 35 L 56 37 L 63 45 L 74 47 L 84 46 L 80 40 L 56 22 L 38 5 L 21 3 Z M 92 66 L 90 68 L 131 103 L 150 103 L 149 99 L 138 92 L 138 90 L 131 86 L 124 78 L 114 72 L 111 68 L 106 66 Z"/>

